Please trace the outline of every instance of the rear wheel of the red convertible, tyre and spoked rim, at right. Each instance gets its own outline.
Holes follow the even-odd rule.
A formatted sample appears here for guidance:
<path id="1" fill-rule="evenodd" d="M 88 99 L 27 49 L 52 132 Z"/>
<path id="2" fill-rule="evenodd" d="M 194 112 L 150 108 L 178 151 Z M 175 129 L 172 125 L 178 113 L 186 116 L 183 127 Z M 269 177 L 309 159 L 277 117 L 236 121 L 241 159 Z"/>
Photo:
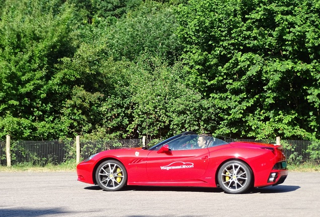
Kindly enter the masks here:
<path id="1" fill-rule="evenodd" d="M 217 174 L 220 187 L 226 193 L 244 193 L 252 187 L 252 170 L 242 161 L 224 163 Z"/>

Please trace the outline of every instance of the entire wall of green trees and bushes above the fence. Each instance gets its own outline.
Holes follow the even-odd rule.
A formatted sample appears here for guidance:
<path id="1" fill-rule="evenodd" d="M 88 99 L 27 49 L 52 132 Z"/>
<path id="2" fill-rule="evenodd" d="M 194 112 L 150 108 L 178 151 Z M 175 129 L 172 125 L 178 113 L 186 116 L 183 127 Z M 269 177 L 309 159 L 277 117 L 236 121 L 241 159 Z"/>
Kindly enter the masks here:
<path id="1" fill-rule="evenodd" d="M 319 1 L 0 3 L 0 138 L 320 139 Z"/>

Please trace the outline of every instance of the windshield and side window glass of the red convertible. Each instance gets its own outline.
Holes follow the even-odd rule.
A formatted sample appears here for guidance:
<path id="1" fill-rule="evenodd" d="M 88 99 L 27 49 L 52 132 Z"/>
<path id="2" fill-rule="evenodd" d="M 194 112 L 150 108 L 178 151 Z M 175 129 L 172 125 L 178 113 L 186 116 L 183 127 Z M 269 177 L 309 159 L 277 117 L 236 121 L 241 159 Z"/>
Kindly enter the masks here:
<path id="1" fill-rule="evenodd" d="M 203 137 L 202 135 L 178 135 L 175 137 L 171 137 L 161 143 L 158 143 L 148 150 L 159 150 L 164 145 L 169 145 L 171 150 L 189 150 L 189 149 L 199 149 L 199 148 L 210 148 L 218 145 L 228 144 L 221 139 L 206 136 L 205 144 L 201 146 L 200 142 L 198 142 L 199 137 Z"/>

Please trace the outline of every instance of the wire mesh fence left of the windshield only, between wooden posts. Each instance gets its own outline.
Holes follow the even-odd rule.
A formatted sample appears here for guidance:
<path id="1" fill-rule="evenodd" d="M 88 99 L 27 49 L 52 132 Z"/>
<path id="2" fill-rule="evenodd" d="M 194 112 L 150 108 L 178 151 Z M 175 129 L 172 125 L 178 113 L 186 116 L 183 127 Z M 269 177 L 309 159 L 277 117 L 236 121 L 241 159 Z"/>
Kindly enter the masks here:
<path id="1" fill-rule="evenodd" d="M 148 140 L 145 144 L 148 144 Z M 81 158 L 110 149 L 142 147 L 142 139 L 122 139 L 110 141 L 81 141 Z M 45 166 L 59 165 L 76 158 L 75 140 L 69 141 L 11 141 L 12 165 L 29 164 Z M 6 141 L 0 141 L 1 165 L 7 165 Z"/>

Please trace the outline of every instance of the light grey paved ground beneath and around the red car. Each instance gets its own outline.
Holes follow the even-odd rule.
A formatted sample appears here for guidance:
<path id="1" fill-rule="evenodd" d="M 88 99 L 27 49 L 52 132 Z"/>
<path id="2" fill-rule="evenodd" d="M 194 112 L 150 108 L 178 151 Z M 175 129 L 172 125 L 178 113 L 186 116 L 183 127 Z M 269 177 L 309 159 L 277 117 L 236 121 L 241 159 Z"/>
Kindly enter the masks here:
<path id="1" fill-rule="evenodd" d="M 217 188 L 125 187 L 107 192 L 75 172 L 0 172 L 0 216 L 319 216 L 320 172 L 289 172 L 246 194 Z"/>

